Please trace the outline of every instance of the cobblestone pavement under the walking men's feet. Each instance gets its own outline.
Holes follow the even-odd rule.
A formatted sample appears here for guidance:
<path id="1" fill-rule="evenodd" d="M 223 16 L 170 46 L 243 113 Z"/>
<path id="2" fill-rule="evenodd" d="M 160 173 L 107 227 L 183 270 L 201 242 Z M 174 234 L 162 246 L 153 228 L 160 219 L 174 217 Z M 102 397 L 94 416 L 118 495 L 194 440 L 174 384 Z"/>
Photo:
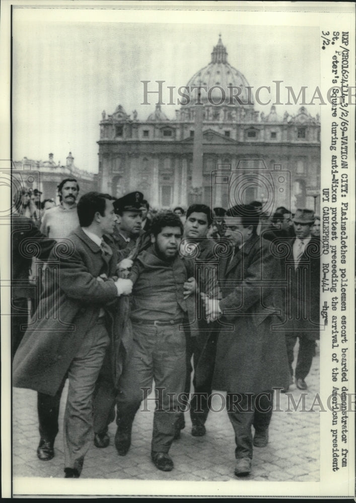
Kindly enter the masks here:
<path id="1" fill-rule="evenodd" d="M 296 350 L 298 345 L 296 346 Z M 315 393 L 319 392 L 319 347 L 306 381 L 306 410 Z M 292 385 L 290 392 L 279 394 L 282 412 L 273 412 L 269 428 L 269 443 L 255 448 L 251 481 L 319 481 L 319 412 L 301 413 L 293 409 L 302 391 Z M 306 392 L 303 392 L 306 393 Z M 39 442 L 36 393 L 27 389 L 13 389 L 13 476 L 63 477 L 63 411 L 66 398 L 64 388 L 59 420 L 59 433 L 55 442 L 55 456 L 51 461 L 40 461 L 36 455 Z M 153 402 L 152 402 L 153 403 Z M 213 408 L 221 407 L 217 395 Z M 288 405 L 289 404 L 289 405 Z M 275 407 L 276 408 L 276 407 Z M 235 441 L 226 410 L 210 412 L 206 422 L 206 435 L 192 437 L 189 413 L 185 414 L 186 427 L 180 440 L 173 443 L 170 454 L 174 460 L 171 472 L 162 472 L 150 458 L 153 412 L 137 412 L 132 430 L 132 445 L 125 457 L 118 456 L 113 438 L 115 423 L 109 427 L 110 445 L 106 449 L 89 450 L 81 478 L 128 480 L 236 480 Z"/>

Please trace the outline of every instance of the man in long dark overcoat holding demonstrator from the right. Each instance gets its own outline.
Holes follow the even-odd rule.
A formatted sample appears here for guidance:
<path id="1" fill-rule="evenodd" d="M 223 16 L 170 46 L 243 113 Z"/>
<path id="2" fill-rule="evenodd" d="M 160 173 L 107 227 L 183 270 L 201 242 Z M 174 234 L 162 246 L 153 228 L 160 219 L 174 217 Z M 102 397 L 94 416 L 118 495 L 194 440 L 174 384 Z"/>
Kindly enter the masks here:
<path id="1" fill-rule="evenodd" d="M 235 432 L 235 474 L 251 471 L 253 445 L 264 447 L 272 413 L 273 387 L 288 376 L 279 261 L 270 243 L 256 235 L 258 214 L 237 205 L 226 214 L 225 237 L 233 254 L 219 264 L 222 300 L 206 300 L 210 319 L 228 324 L 219 334 L 213 389 L 227 391 L 227 409 Z M 229 326 L 230 325 L 230 326 Z M 232 328 L 232 329 L 229 329 Z M 251 426 L 255 435 L 252 439 Z"/>

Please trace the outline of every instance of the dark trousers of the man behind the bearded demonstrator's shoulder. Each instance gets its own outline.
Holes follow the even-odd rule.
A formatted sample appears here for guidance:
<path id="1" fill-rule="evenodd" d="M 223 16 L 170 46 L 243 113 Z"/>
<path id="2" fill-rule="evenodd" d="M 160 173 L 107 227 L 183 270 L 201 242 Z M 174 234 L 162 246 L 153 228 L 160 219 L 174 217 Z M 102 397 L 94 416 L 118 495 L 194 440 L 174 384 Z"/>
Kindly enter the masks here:
<path id="1" fill-rule="evenodd" d="M 190 392 L 191 373 L 193 371 L 191 359 L 193 357 L 194 392 L 189 404 L 190 418 L 193 425 L 204 425 L 211 403 L 211 382 L 214 373 L 215 356 L 217 351 L 217 340 L 219 329 L 215 323 L 211 327 L 207 323 L 201 322 L 199 327 L 201 331 L 192 336 L 190 332 L 186 333 L 186 366 L 187 373 L 185 377 L 184 400 L 185 408 L 188 406 L 188 397 Z M 207 327 L 209 329 L 207 330 Z M 181 413 L 181 426 L 184 424 L 184 415 Z"/>

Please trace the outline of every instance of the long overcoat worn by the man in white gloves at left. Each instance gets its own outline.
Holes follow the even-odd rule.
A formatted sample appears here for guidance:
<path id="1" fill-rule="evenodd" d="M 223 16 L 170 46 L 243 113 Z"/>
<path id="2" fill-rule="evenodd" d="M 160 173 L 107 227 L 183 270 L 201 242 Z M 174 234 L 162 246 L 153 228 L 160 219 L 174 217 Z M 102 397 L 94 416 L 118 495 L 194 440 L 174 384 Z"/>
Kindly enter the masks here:
<path id="1" fill-rule="evenodd" d="M 104 259 L 101 248 L 80 227 L 67 239 L 69 247 L 58 242 L 51 251 L 52 277 L 13 362 L 14 386 L 50 395 L 58 390 L 100 308 L 115 309 L 117 299 L 114 281 L 97 279 L 104 273 L 114 275 L 116 251 Z"/>

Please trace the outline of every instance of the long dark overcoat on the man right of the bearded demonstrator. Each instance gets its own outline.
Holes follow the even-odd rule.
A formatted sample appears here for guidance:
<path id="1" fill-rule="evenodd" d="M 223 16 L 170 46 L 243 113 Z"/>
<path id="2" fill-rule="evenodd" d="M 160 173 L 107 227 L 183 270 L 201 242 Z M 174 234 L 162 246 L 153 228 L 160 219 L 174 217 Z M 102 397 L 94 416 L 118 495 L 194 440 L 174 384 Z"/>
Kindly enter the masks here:
<path id="1" fill-rule="evenodd" d="M 288 382 L 280 264 L 271 243 L 252 236 L 219 264 L 226 323 L 219 334 L 212 388 L 260 393 Z M 279 283 L 278 283 L 279 280 Z"/>

